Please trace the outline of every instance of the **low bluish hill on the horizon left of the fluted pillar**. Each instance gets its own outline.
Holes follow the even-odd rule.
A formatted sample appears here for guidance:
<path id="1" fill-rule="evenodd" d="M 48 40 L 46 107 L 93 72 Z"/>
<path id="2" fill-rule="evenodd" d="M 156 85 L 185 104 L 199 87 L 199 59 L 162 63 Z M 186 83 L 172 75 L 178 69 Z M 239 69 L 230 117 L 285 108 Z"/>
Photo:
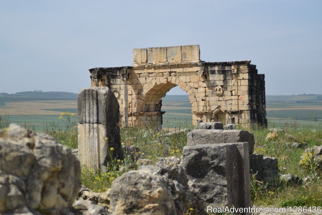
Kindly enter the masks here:
<path id="1" fill-rule="evenodd" d="M 0 93 L 0 101 L 77 100 L 78 94 L 68 92 L 26 91 L 14 94 Z"/>

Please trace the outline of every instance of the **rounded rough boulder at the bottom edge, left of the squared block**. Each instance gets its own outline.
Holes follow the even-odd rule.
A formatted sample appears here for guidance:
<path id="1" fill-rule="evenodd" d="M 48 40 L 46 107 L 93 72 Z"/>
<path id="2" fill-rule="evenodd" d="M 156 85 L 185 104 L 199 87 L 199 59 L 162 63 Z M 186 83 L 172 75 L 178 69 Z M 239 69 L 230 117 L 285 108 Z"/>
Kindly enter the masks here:
<path id="1" fill-rule="evenodd" d="M 117 177 L 109 191 L 111 214 L 176 214 L 174 198 L 166 182 L 147 170 L 129 171 Z"/>

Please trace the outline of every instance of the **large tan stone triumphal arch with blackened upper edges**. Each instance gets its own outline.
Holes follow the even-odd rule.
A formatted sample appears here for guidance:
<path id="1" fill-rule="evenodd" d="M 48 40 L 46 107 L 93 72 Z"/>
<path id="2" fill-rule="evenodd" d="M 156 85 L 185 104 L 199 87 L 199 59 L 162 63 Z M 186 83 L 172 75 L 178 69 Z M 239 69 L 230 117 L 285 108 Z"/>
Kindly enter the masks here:
<path id="1" fill-rule="evenodd" d="M 92 87 L 109 87 L 126 125 L 162 123 L 162 98 L 179 86 L 192 105 L 193 123 L 267 125 L 264 74 L 251 61 L 204 62 L 199 45 L 133 50 L 133 65 L 90 69 Z"/>

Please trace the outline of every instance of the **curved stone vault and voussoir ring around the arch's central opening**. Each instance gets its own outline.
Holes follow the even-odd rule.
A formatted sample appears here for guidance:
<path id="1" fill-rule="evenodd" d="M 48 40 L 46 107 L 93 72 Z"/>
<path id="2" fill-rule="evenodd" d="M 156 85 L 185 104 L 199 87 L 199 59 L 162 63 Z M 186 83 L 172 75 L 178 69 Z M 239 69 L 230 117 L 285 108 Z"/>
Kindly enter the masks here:
<path id="1" fill-rule="evenodd" d="M 146 115 L 147 117 L 141 119 L 142 121 L 148 121 L 149 118 L 162 121 L 162 114 L 164 113 L 161 112 L 162 98 L 175 86 L 179 86 L 180 89 L 184 90 L 189 95 L 192 112 L 198 110 L 195 89 L 191 88 L 177 77 L 157 77 L 144 85 L 137 99 L 137 115 L 143 117 Z M 153 118 L 152 116 L 156 117 Z"/>

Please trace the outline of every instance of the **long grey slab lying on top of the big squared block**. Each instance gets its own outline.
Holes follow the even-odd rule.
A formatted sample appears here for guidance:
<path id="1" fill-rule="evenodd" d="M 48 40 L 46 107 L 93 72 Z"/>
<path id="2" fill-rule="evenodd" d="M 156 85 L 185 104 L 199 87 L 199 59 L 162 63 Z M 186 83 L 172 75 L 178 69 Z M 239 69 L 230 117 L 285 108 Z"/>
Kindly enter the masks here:
<path id="1" fill-rule="evenodd" d="M 195 129 L 187 134 L 187 145 L 248 142 L 249 154 L 254 150 L 254 135 L 244 130 Z"/>

